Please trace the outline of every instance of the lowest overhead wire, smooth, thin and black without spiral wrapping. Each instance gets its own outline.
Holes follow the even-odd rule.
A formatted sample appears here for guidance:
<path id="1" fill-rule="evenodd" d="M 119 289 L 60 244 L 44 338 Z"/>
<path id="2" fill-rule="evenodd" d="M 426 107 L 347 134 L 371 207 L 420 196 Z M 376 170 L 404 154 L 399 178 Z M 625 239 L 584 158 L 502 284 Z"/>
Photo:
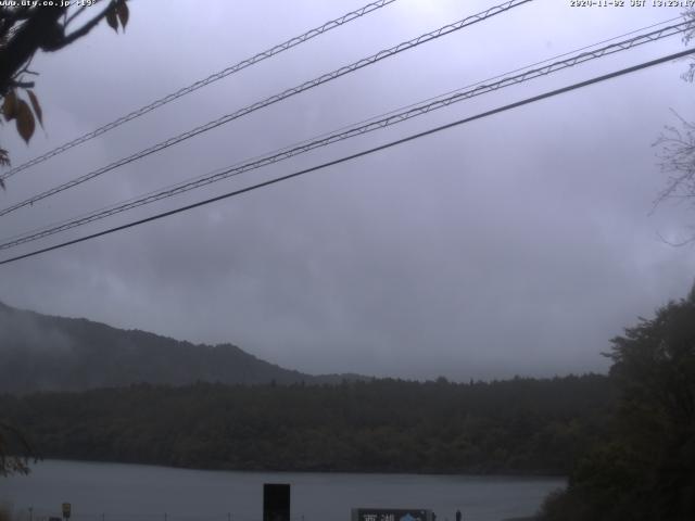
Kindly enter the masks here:
<path id="1" fill-rule="evenodd" d="M 128 229 L 128 228 L 132 228 L 132 227 L 136 227 L 136 226 L 139 226 L 139 225 L 143 225 L 146 223 L 150 223 L 150 221 L 153 221 L 153 220 L 162 219 L 164 217 L 168 217 L 168 216 L 172 216 L 172 215 L 175 215 L 175 214 L 187 212 L 189 209 L 193 209 L 193 208 L 197 208 L 199 206 L 204 206 L 204 205 L 217 202 L 217 201 L 222 201 L 224 199 L 229 199 L 229 198 L 233 198 L 236 195 L 241 195 L 242 193 L 251 192 L 253 190 L 256 190 L 256 189 L 260 189 L 260 188 L 265 188 L 265 187 L 268 187 L 270 185 L 276 185 L 278 182 L 286 181 L 286 180 L 289 180 L 289 179 L 292 179 L 292 178 L 295 178 L 295 177 L 300 177 L 300 176 L 303 176 L 303 175 L 312 173 L 312 171 L 316 171 L 316 170 L 319 170 L 319 169 L 323 169 L 323 168 L 327 168 L 329 166 L 334 166 L 334 165 L 338 165 L 338 164 L 341 164 L 341 163 L 345 163 L 345 162 L 349 162 L 349 161 L 352 161 L 352 160 L 355 160 L 355 158 L 358 158 L 358 157 L 363 157 L 365 155 L 372 154 L 375 152 L 379 152 L 379 151 L 382 151 L 382 150 L 386 150 L 386 149 L 390 149 L 392 147 L 396 147 L 399 144 L 403 144 L 403 143 L 406 143 L 406 142 L 409 142 L 409 141 L 414 141 L 416 139 L 424 138 L 426 136 L 430 136 L 432 134 L 437 134 L 437 132 L 440 132 L 442 130 L 446 130 L 446 129 L 450 129 L 450 128 L 457 127 L 459 125 L 464 125 L 466 123 L 473 122 L 476 119 L 482 119 L 484 117 L 489 117 L 489 116 L 492 116 L 492 115 L 495 115 L 495 114 L 500 114 L 502 112 L 506 112 L 506 111 L 509 111 L 511 109 L 517 109 L 519 106 L 523 106 L 523 105 L 527 105 L 527 104 L 530 104 L 530 103 L 535 103 L 538 101 L 541 101 L 541 100 L 544 100 L 544 99 L 547 99 L 547 98 L 559 96 L 559 94 L 563 94 L 563 93 L 566 93 L 566 92 L 569 92 L 569 91 L 572 91 L 572 90 L 581 89 L 581 88 L 584 88 L 584 87 L 589 87 L 590 85 L 593 85 L 593 84 L 597 84 L 597 82 L 601 82 L 601 81 L 606 81 L 608 79 L 612 79 L 612 78 L 616 78 L 616 77 L 619 77 L 619 76 L 623 76 L 626 74 L 631 74 L 631 73 L 634 73 L 634 72 L 637 72 L 637 71 L 642 71 L 642 69 L 647 68 L 647 67 L 653 67 L 655 65 L 658 65 L 658 64 L 661 64 L 661 63 L 665 63 L 665 62 L 668 62 L 668 61 L 671 61 L 671 60 L 677 60 L 679 58 L 684 58 L 684 56 L 687 56 L 687 55 L 694 54 L 694 53 L 695 53 L 695 49 L 688 49 L 688 50 L 677 52 L 677 53 L 673 53 L 673 54 L 669 54 L 667 56 L 662 56 L 662 58 L 659 58 L 659 59 L 656 59 L 656 60 L 652 60 L 649 62 L 643 62 L 643 63 L 641 63 L 639 65 L 634 65 L 632 67 L 622 68 L 620 71 L 616 71 L 616 72 L 612 72 L 612 73 L 609 73 L 609 74 L 605 74 L 603 76 L 597 76 L 597 77 L 594 77 L 594 78 L 591 78 L 591 79 L 587 79 L 587 80 L 584 80 L 584 81 L 572 84 L 570 86 L 563 87 L 560 89 L 555 89 L 555 90 L 551 90 L 548 92 L 544 92 L 542 94 L 538 94 L 538 96 L 534 96 L 534 97 L 531 97 L 531 98 L 526 98 L 525 100 L 517 101 L 515 103 L 509 103 L 507 105 L 504 105 L 504 106 L 501 106 L 501 107 L 497 107 L 497 109 L 493 109 L 491 111 L 482 112 L 480 114 L 476 114 L 475 116 L 465 117 L 463 119 L 458 119 L 456 122 L 448 123 L 446 125 L 441 125 L 439 127 L 434 127 L 434 128 L 431 128 L 429 130 L 425 130 L 422 132 L 414 134 L 414 135 L 407 136 L 405 138 L 401 138 L 401 139 L 395 140 L 395 141 L 391 141 L 389 143 L 381 144 L 379 147 L 374 147 L 371 149 L 367 149 L 367 150 L 364 150 L 362 152 L 357 152 L 355 154 L 346 155 L 346 156 L 340 157 L 338 160 L 329 161 L 329 162 L 323 163 L 320 165 L 316 165 L 316 166 L 313 166 L 313 167 L 309 167 L 309 168 L 305 168 L 305 169 L 302 169 L 302 170 L 299 170 L 299 171 L 295 171 L 295 173 L 292 173 L 292 174 L 288 174 L 286 176 L 276 177 L 274 179 L 269 179 L 267 181 L 260 182 L 257 185 L 252 185 L 250 187 L 242 188 L 240 190 L 235 190 L 232 192 L 228 192 L 228 193 L 225 193 L 225 194 L 222 194 L 222 195 L 217 195 L 217 196 L 214 196 L 214 198 L 211 198 L 211 199 L 199 201 L 197 203 L 188 204 L 186 206 L 181 206 L 181 207 L 178 207 L 178 208 L 175 208 L 175 209 L 169 209 L 168 212 L 163 212 L 161 214 L 156 214 L 156 215 L 153 215 L 153 216 L 150 216 L 150 217 L 146 217 L 143 219 L 135 220 L 135 221 L 131 221 L 131 223 L 128 223 L 128 224 L 125 224 L 125 225 L 121 225 L 121 226 L 116 226 L 114 228 L 110 228 L 110 229 L 106 229 L 106 230 L 103 230 L 103 231 L 99 231 L 97 233 L 91 233 L 89 236 L 84 236 L 84 237 L 80 237 L 78 239 L 73 239 L 71 241 L 65 241 L 65 242 L 62 242 L 60 244 L 55 244 L 55 245 L 52 245 L 52 246 L 43 247 L 41 250 L 35 250 L 33 252 L 25 253 L 23 255 L 17 255 L 15 257 L 11 257 L 11 258 L 4 259 L 4 260 L 0 260 L 0 266 L 4 265 L 4 264 L 16 262 L 16 260 L 21 260 L 21 259 L 24 259 L 24 258 L 33 257 L 33 256 L 39 255 L 41 253 L 47 253 L 47 252 L 51 252 L 53 250 L 59 250 L 59 249 L 62 249 L 62 247 L 66 247 L 66 246 L 70 246 L 72 244 L 77 244 L 79 242 L 85 242 L 85 241 L 88 241 L 90 239 L 96 239 L 98 237 L 102 237 L 102 236 L 106 236 L 106 234 L 110 234 L 110 233 L 114 233 L 116 231 L 121 231 L 121 230 L 125 230 L 125 229 Z"/>

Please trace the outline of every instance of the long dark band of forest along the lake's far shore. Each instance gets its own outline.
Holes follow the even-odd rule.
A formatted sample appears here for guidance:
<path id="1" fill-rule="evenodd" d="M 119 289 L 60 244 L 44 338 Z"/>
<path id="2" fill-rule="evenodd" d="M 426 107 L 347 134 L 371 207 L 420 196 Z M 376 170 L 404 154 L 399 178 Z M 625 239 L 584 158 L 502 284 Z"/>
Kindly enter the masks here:
<path id="1" fill-rule="evenodd" d="M 45 457 L 244 470 L 566 473 L 606 435 L 607 377 L 470 384 L 139 384 L 0 396 Z"/>

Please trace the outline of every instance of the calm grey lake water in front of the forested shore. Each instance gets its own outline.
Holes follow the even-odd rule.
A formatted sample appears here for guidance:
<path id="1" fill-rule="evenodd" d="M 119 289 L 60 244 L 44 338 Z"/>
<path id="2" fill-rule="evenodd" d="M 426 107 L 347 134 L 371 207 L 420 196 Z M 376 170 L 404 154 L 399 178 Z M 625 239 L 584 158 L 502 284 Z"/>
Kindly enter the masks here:
<path id="1" fill-rule="evenodd" d="M 533 514 L 558 478 L 227 472 L 141 465 L 41 461 L 28 476 L 0 478 L 0 504 L 18 521 L 260 521 L 263 483 L 290 483 L 292 519 L 349 521 L 353 507 L 428 508 L 438 521 Z M 31 510 L 29 510 L 29 508 Z"/>

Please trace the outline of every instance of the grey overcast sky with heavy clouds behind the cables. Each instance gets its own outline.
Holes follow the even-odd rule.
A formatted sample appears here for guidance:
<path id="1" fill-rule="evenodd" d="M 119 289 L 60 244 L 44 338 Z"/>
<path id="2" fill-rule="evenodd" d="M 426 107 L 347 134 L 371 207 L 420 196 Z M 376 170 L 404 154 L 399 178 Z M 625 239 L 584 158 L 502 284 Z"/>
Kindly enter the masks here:
<path id="1" fill-rule="evenodd" d="M 18 165 L 366 0 L 129 2 L 33 69 L 46 130 Z M 8 180 L 5 207 L 180 131 L 496 3 L 397 0 Z M 627 2 L 630 3 L 629 1 Z M 650 2 L 647 2 L 650 3 Z M 66 219 L 674 16 L 536 0 L 4 216 Z M 28 252 L 319 164 L 684 48 L 680 38 L 485 94 L 43 242 Z M 695 118 L 687 62 L 473 122 L 135 229 L 0 267 L 0 300 L 306 372 L 455 380 L 605 371 L 609 340 L 693 283 L 695 212 L 650 213 L 653 143 Z"/>

